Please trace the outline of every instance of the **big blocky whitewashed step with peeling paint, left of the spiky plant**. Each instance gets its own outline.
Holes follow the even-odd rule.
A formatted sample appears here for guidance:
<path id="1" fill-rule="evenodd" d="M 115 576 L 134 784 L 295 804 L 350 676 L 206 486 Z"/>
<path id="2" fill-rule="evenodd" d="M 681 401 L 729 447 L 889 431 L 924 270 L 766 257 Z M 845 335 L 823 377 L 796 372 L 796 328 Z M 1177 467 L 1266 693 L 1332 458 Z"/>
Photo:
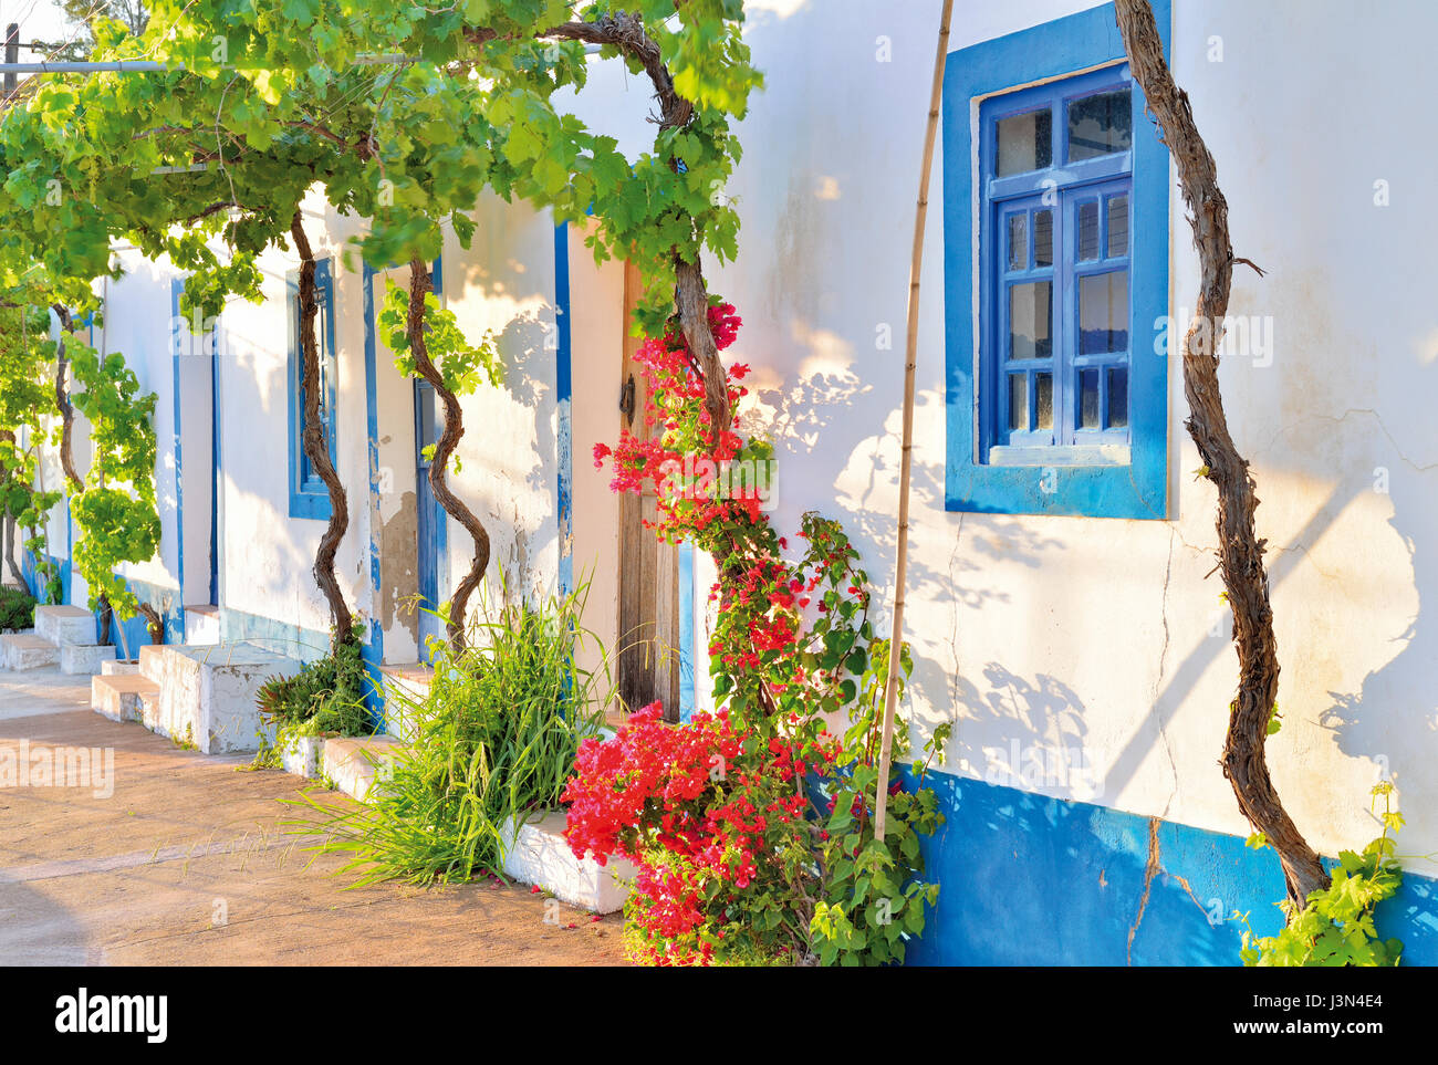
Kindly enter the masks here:
<path id="1" fill-rule="evenodd" d="M 160 686 L 145 726 L 204 755 L 253 753 L 267 732 L 256 704 L 260 686 L 296 673 L 298 661 L 255 644 L 141 647 L 139 676 Z"/>

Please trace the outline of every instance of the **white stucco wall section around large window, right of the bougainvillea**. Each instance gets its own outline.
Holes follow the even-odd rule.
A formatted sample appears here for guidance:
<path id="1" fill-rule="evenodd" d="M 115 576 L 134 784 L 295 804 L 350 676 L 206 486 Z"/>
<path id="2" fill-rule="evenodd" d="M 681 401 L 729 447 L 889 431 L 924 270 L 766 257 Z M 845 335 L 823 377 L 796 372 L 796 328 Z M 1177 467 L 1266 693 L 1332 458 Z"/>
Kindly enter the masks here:
<path id="1" fill-rule="evenodd" d="M 713 290 L 743 316 L 733 355 L 755 366 L 778 444 L 778 526 L 792 529 L 808 507 L 841 517 L 886 584 L 939 6 L 751 6 L 764 9 L 746 39 L 766 88 L 739 128 L 745 157 L 725 190 L 743 218 L 739 260 L 710 269 Z M 1091 6 L 966 4 L 952 47 Z M 1429 32 L 1395 42 L 1391 20 L 1340 3 L 1175 7 L 1173 68 L 1218 160 L 1237 253 L 1270 270 L 1235 273 L 1232 313 L 1271 316 L 1273 362 L 1231 358 L 1222 384 L 1271 546 L 1286 720 L 1270 743 L 1274 776 L 1310 841 L 1332 854 L 1376 834 L 1368 789 L 1386 766 L 1409 813 L 1402 849 L 1434 851 L 1438 824 L 1425 811 L 1438 795 L 1425 770 L 1438 749 L 1428 683 L 1438 654 L 1419 605 L 1438 582 L 1415 563 L 1438 523 L 1438 438 L 1419 411 L 1438 352 L 1419 280 L 1435 229 L 1419 190 L 1434 151 L 1414 131 L 1425 128 L 1419 42 L 1438 17 L 1405 6 Z M 1215 34 L 1222 62 L 1208 57 Z M 892 62 L 879 62 L 880 37 Z M 1313 78 L 1314 56 L 1342 56 L 1350 76 Z M 1182 430 L 1176 359 L 1173 520 L 948 513 L 942 158 L 935 167 L 906 625 L 915 714 L 925 729 L 956 723 L 949 772 L 999 770 L 1005 783 L 1094 798 L 1061 778 L 1002 772 L 1015 740 L 1021 757 L 1068 749 L 1090 759 L 1104 805 L 1245 835 L 1217 765 L 1237 664 L 1227 624 L 1209 635 L 1222 617 L 1218 578 L 1204 579 L 1214 492 L 1191 476 L 1199 460 Z M 1393 190 L 1386 208 L 1373 204 L 1379 178 Z M 1171 230 L 1178 310 L 1192 305 L 1196 260 L 1176 195 Z M 876 349 L 880 323 L 893 328 L 890 351 Z M 1378 469 L 1388 493 L 1373 490 Z"/>

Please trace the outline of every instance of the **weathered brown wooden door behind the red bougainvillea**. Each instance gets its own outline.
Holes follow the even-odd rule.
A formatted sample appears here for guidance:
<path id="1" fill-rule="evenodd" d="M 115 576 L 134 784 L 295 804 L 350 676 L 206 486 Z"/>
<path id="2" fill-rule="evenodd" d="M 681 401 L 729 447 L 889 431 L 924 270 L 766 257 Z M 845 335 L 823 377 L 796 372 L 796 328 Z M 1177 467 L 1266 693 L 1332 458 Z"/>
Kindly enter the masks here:
<path id="1" fill-rule="evenodd" d="M 624 365 L 621 366 L 620 428 L 640 440 L 650 437 L 644 421 L 644 375 L 634 361 L 638 338 L 628 335 L 631 312 L 643 295 L 633 264 L 624 267 Z M 615 434 L 617 435 L 617 434 Z M 644 522 L 656 519 L 653 489 L 643 496 L 620 496 L 620 699 L 638 710 L 656 699 L 664 720 L 680 713 L 679 549 L 660 543 Z"/>

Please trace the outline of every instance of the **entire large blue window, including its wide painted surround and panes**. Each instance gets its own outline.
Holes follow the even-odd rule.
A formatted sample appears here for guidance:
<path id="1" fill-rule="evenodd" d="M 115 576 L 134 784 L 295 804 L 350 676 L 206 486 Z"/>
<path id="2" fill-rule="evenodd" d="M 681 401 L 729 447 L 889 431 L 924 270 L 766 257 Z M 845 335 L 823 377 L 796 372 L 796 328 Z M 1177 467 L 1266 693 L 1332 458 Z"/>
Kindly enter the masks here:
<path id="1" fill-rule="evenodd" d="M 946 507 L 1166 517 L 1169 164 L 1113 6 L 951 56 L 943 129 Z"/>

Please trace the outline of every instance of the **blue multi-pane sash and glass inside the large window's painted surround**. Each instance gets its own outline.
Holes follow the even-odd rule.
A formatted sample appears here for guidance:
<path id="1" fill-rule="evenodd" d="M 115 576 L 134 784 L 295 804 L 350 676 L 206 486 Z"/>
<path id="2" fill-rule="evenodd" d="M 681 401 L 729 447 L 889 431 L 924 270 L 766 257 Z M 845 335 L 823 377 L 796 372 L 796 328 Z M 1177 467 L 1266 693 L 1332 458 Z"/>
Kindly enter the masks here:
<path id="1" fill-rule="evenodd" d="M 1127 66 L 981 105 L 988 463 L 1127 461 L 1132 115 Z"/>

